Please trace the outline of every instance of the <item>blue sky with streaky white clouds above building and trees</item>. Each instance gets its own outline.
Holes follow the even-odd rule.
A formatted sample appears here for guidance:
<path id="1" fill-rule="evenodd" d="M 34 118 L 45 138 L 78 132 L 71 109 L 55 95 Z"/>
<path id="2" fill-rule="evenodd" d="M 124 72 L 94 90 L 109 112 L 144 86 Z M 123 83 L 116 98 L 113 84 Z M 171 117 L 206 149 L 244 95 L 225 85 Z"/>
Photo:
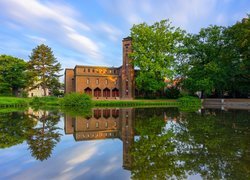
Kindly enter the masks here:
<path id="1" fill-rule="evenodd" d="M 120 66 L 122 39 L 134 24 L 169 19 L 198 33 L 233 25 L 247 13 L 250 0 L 0 0 L 0 54 L 28 61 L 43 43 L 62 68 Z"/>

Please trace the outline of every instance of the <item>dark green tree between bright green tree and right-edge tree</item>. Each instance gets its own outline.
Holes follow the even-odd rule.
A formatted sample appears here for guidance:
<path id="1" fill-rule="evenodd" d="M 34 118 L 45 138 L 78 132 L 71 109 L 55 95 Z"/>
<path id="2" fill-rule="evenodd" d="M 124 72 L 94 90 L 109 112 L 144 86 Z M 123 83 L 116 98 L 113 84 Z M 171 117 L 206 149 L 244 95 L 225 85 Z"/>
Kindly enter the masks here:
<path id="1" fill-rule="evenodd" d="M 214 89 L 223 94 L 228 83 L 227 63 L 223 59 L 225 54 L 224 27 L 210 26 L 203 28 L 197 35 L 189 35 L 185 41 L 187 47 L 183 53 L 185 60 L 179 65 L 184 77 L 184 87 L 191 93 L 202 92 L 210 95 Z M 183 56 L 182 56 L 183 57 Z"/>

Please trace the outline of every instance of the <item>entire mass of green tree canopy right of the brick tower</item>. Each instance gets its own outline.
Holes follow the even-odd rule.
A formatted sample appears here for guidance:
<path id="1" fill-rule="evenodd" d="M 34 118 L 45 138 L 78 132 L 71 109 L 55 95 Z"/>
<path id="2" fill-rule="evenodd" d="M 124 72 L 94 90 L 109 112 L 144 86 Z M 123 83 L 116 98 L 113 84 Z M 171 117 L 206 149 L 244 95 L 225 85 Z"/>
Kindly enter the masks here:
<path id="1" fill-rule="evenodd" d="M 136 86 L 156 92 L 164 78 L 178 78 L 182 89 L 203 96 L 248 97 L 250 93 L 250 15 L 232 26 L 211 25 L 187 34 L 168 20 L 134 25 L 130 54 Z"/>

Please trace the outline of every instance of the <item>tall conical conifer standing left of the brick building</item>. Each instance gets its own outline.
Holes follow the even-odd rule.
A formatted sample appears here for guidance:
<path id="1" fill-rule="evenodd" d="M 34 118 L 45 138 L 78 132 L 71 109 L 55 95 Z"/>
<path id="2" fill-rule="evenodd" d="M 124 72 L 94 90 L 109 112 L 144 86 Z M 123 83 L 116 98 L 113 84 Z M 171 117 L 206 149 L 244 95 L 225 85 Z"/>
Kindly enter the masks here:
<path id="1" fill-rule="evenodd" d="M 37 82 L 34 87 L 41 86 L 46 96 L 46 89 L 50 88 L 54 78 L 59 77 L 58 73 L 61 70 L 61 64 L 57 62 L 51 48 L 41 44 L 32 50 L 29 69 L 33 75 L 37 77 Z"/>

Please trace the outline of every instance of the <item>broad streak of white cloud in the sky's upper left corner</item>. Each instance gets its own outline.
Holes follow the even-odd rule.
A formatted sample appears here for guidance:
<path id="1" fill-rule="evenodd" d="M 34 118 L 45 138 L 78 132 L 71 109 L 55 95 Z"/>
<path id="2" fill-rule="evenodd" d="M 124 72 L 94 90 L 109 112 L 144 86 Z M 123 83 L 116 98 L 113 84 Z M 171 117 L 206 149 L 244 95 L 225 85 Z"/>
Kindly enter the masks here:
<path id="1" fill-rule="evenodd" d="M 98 43 L 85 35 L 91 30 L 90 27 L 76 20 L 74 16 L 77 13 L 73 8 L 51 2 L 42 4 L 36 0 L 9 0 L 0 2 L 0 5 L 12 22 L 39 32 L 46 38 L 53 38 L 57 43 L 74 48 L 90 58 L 101 59 Z M 27 37 L 45 40 L 30 35 Z"/>

